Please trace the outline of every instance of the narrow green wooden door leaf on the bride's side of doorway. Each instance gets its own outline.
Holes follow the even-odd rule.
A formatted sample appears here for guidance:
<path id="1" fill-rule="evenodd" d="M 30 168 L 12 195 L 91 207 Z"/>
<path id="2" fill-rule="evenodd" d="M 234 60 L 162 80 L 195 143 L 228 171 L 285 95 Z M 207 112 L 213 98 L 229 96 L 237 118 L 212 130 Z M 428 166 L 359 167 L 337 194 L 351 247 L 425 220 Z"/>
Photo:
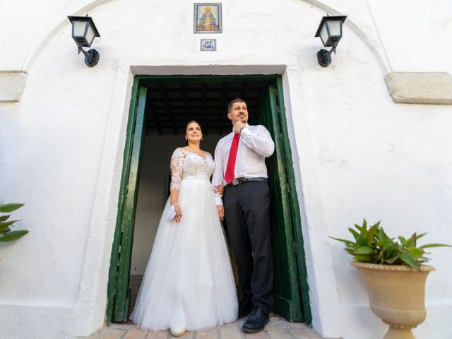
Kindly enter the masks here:
<path id="1" fill-rule="evenodd" d="M 140 181 L 141 157 L 145 138 L 145 102 L 147 89 L 133 86 L 131 113 L 127 126 L 126 146 L 119 192 L 118 215 L 110 263 L 107 322 L 126 321 L 129 316 L 129 271 L 131 263 L 133 225 Z"/>

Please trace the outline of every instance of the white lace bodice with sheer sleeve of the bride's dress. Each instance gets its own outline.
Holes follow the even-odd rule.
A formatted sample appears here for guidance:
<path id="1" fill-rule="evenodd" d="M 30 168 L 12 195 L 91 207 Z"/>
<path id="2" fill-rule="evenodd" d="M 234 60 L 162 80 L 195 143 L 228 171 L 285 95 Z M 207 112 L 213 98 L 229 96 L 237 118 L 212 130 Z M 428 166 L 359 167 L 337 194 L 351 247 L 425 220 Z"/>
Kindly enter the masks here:
<path id="1" fill-rule="evenodd" d="M 215 168 L 212 155 L 198 155 L 183 148 L 176 148 L 171 157 L 171 186 L 179 189 L 182 179 L 209 180 Z"/>

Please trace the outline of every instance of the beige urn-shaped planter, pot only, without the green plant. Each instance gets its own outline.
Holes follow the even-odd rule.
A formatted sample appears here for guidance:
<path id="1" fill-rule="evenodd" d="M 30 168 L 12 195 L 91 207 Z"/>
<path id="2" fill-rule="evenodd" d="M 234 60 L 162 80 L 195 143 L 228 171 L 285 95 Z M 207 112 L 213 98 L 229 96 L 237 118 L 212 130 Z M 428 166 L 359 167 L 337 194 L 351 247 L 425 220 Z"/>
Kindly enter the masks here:
<path id="1" fill-rule="evenodd" d="M 424 305 L 425 280 L 435 270 L 402 265 L 380 265 L 352 261 L 359 270 L 371 310 L 389 325 L 383 339 L 415 339 L 411 328 L 422 323 L 427 313 Z"/>

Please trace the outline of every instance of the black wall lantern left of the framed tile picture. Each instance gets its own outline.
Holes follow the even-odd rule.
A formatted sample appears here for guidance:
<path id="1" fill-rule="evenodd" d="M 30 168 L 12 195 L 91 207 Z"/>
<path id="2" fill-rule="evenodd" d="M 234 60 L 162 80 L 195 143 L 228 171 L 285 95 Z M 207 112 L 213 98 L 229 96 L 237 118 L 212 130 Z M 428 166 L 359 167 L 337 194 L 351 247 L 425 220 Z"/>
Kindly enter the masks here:
<path id="1" fill-rule="evenodd" d="M 85 55 L 85 64 L 88 67 L 93 67 L 99 62 L 100 54 L 95 49 L 90 49 L 86 52 L 82 47 L 91 47 L 95 37 L 100 37 L 99 32 L 93 22 L 93 19 L 88 16 L 68 16 L 72 23 L 72 38 L 78 47 L 78 54 L 82 52 Z"/>

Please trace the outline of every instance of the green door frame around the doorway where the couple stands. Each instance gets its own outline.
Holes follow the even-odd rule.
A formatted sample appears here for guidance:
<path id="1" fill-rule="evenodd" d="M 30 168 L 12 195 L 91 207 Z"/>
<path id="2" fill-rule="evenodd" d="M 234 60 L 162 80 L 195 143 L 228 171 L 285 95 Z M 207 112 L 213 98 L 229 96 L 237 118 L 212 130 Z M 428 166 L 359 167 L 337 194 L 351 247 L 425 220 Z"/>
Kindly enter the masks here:
<path id="1" fill-rule="evenodd" d="M 129 270 L 131 261 L 131 246 L 133 240 L 133 223 L 135 220 L 136 197 L 138 196 L 138 182 L 143 152 L 143 121 L 145 109 L 145 86 L 143 83 L 153 82 L 228 82 L 228 81 L 268 81 L 273 83 L 278 92 L 278 119 L 282 128 L 283 155 L 288 180 L 290 212 L 294 232 L 294 251 L 297 256 L 299 275 L 299 290 L 302 295 L 303 320 L 311 324 L 311 308 L 309 303 L 309 287 L 307 283 L 307 268 L 304 256 L 302 238 L 302 224 L 299 215 L 299 204 L 295 189 L 295 174 L 290 151 L 290 140 L 287 133 L 287 119 L 285 117 L 283 82 L 279 75 L 273 76 L 136 76 L 133 80 L 129 120 L 127 123 L 126 143 L 124 146 L 124 160 L 119 187 L 119 201 L 116 229 L 112 246 L 107 287 L 107 324 L 112 321 L 126 321 L 129 308 Z"/>

